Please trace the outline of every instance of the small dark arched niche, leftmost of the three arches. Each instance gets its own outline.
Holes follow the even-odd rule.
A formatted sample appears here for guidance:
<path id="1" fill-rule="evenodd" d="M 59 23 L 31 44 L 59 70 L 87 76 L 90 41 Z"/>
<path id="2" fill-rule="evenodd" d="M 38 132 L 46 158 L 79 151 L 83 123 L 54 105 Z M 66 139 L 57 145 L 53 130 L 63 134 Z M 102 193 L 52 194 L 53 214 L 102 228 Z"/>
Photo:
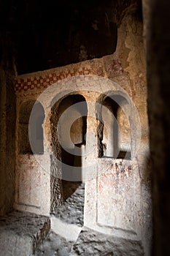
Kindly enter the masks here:
<path id="1" fill-rule="evenodd" d="M 45 111 L 42 104 L 33 99 L 23 102 L 19 112 L 19 154 L 43 154 L 42 124 Z"/>

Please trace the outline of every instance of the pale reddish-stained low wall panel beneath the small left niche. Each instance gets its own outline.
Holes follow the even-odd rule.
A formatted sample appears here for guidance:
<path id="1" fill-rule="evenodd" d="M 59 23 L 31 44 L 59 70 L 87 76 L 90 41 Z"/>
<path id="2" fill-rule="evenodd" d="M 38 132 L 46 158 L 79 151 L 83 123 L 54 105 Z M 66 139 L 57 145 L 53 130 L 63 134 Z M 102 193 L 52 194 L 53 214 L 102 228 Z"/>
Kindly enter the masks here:
<path id="1" fill-rule="evenodd" d="M 17 164 L 15 209 L 48 216 L 50 214 L 50 156 L 20 154 Z"/>

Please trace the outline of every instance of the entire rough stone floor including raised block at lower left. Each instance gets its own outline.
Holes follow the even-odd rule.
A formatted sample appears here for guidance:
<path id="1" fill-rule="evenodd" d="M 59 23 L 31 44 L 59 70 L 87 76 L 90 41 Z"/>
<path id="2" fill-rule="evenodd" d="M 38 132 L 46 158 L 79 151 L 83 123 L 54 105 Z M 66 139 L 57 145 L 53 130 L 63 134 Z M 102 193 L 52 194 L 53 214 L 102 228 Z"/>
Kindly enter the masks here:
<path id="1" fill-rule="evenodd" d="M 14 211 L 0 218 L 0 256 L 143 256 L 140 241 L 83 226 L 84 184 L 63 182 L 64 203 L 49 217 Z"/>

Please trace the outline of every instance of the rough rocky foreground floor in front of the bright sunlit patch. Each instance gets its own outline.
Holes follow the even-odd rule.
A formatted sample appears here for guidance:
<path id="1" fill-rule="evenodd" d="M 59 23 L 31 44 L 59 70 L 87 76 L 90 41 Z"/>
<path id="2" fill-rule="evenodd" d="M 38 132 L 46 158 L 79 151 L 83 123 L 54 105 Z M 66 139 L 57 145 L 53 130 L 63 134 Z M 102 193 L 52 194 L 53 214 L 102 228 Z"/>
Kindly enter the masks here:
<path id="1" fill-rule="evenodd" d="M 45 243 L 36 251 L 36 256 L 144 256 L 140 241 L 107 236 L 82 228 L 77 241 L 67 241 L 52 231 Z"/>

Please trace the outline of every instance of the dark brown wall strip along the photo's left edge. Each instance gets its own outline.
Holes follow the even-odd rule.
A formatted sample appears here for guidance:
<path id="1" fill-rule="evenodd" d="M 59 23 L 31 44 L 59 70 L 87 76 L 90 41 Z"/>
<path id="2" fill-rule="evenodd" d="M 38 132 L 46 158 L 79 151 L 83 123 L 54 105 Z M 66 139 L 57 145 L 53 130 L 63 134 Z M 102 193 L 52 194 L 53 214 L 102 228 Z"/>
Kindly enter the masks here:
<path id="1" fill-rule="evenodd" d="M 0 215 L 15 197 L 15 62 L 10 35 L 0 34 Z"/>

